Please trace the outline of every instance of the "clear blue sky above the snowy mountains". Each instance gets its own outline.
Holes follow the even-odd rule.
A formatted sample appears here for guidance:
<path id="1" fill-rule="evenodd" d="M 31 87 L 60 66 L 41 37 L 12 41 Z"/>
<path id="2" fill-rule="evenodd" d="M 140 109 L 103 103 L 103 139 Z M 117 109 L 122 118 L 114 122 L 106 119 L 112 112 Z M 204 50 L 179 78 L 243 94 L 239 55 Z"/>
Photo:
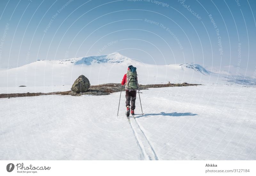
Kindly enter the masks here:
<path id="1" fill-rule="evenodd" d="M 121 54 L 255 70 L 254 0 L 1 0 L 0 68 Z"/>

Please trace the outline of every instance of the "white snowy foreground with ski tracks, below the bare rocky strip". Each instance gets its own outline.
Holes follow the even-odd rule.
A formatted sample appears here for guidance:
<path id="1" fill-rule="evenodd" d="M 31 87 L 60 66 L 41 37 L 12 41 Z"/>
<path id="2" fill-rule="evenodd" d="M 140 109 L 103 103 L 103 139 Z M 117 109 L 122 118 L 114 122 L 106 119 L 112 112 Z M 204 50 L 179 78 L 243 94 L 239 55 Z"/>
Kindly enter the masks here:
<path id="1" fill-rule="evenodd" d="M 42 92 L 42 91 L 39 91 Z M 52 91 L 50 91 L 52 92 Z M 0 99 L 1 160 L 255 160 L 256 91 L 239 84 Z"/>

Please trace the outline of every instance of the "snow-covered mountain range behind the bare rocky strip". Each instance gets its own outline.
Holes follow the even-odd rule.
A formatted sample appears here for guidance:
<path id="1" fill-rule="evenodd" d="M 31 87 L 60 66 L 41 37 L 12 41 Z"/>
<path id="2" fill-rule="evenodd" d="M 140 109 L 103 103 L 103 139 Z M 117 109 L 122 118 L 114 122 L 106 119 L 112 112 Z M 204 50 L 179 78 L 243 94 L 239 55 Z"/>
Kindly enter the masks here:
<path id="1" fill-rule="evenodd" d="M 0 87 L 72 85 L 80 75 L 86 76 L 92 85 L 119 83 L 129 65 L 137 67 L 140 84 L 256 82 L 255 79 L 244 81 L 241 77 L 214 73 L 194 63 L 152 65 L 112 53 L 65 60 L 37 60 L 18 68 L 0 70 Z"/>

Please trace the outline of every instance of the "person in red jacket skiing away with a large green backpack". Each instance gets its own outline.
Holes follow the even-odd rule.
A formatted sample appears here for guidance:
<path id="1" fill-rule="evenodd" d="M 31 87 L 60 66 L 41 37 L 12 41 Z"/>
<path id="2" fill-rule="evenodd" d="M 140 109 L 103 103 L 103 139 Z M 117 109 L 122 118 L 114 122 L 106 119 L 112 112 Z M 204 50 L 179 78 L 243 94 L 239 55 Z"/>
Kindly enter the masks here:
<path id="1" fill-rule="evenodd" d="M 125 106 L 126 106 L 126 116 L 130 116 L 130 111 L 132 116 L 134 116 L 135 109 L 135 100 L 136 100 L 136 90 L 139 88 L 137 71 L 136 67 L 130 65 L 127 69 L 127 73 L 124 74 L 123 80 L 121 82 L 122 85 L 125 85 Z M 130 110 L 131 106 L 131 110 Z"/>

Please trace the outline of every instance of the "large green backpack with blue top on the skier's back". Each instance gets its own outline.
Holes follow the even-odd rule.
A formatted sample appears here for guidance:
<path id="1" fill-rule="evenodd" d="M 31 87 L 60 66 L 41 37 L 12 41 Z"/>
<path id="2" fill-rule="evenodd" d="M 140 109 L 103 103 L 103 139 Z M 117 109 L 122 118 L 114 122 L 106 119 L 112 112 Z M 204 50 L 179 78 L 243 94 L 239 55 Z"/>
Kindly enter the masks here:
<path id="1" fill-rule="evenodd" d="M 127 70 L 127 80 L 126 80 L 126 90 L 136 91 L 139 88 L 138 80 L 137 80 L 137 71 L 136 67 L 132 65 L 129 66 L 129 70 Z"/>

